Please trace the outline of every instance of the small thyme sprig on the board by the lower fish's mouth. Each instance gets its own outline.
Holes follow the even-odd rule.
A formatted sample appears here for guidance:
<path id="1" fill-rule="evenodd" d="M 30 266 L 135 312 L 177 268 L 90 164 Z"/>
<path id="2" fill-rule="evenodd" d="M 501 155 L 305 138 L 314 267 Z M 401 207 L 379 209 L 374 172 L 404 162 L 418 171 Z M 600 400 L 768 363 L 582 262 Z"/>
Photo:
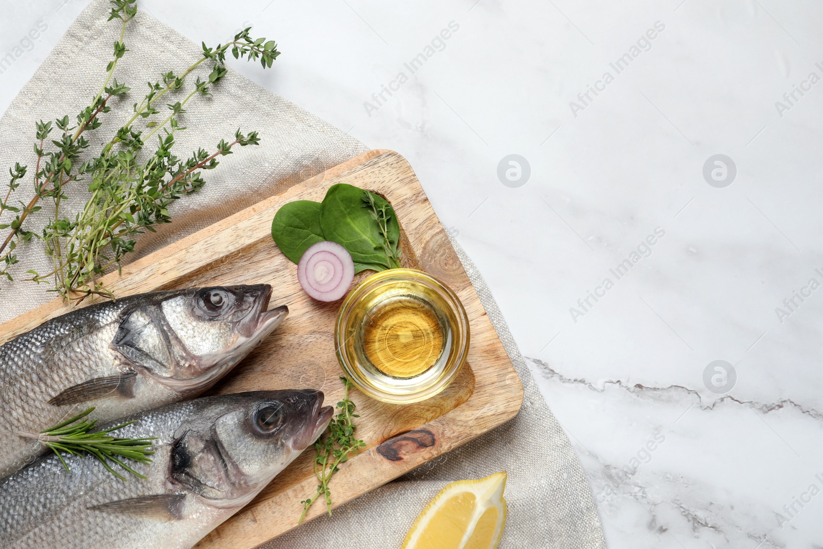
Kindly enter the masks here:
<path id="1" fill-rule="evenodd" d="M 321 495 L 326 500 L 328 514 L 332 514 L 332 491 L 328 488 L 328 482 L 332 480 L 332 475 L 340 470 L 341 463 L 345 463 L 352 454 L 357 454 L 365 447 L 365 442 L 355 438 L 356 426 L 353 420 L 360 416 L 354 413 L 355 403 L 348 398 L 349 388 L 354 385 L 342 375 L 340 379 L 344 384 L 343 399 L 337 402 L 340 412 L 328 424 L 328 434 L 314 443 L 314 449 L 317 450 L 317 456 L 314 458 L 314 476 L 317 477 L 319 484 L 314 495 L 308 500 L 300 501 L 303 504 L 303 513 L 297 520 L 298 524 L 303 522 L 309 507 Z"/>

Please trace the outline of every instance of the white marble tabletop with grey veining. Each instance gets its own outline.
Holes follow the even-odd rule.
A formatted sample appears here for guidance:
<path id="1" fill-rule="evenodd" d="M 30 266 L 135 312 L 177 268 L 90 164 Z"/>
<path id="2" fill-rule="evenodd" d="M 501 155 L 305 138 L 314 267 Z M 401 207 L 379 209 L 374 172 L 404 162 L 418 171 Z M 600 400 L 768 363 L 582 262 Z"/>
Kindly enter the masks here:
<path id="1" fill-rule="evenodd" d="M 85 3 L 3 2 L 0 110 Z M 277 70 L 235 66 L 412 162 L 609 547 L 823 546 L 820 2 L 142 6 L 275 38 Z"/>

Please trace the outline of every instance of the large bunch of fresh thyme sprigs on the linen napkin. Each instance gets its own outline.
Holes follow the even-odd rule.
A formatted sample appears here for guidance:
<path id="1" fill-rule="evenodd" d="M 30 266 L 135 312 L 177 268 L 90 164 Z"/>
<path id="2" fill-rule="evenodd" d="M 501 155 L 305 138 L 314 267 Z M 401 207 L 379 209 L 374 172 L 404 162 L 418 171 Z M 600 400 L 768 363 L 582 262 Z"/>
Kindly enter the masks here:
<path id="1" fill-rule="evenodd" d="M 146 95 L 133 104 L 133 114 L 126 123 L 108 142 L 104 141 L 98 155 L 83 158 L 90 147 L 85 133 L 100 128 L 100 115 L 109 114 L 113 108 L 110 104 L 115 100 L 119 104 L 131 91 L 114 78 L 114 70 L 129 51 L 124 42 L 125 29 L 137 15 L 137 6 L 135 0 L 110 2 L 113 7 L 109 21 L 120 21 L 120 33 L 100 90 L 90 105 L 77 114 L 76 125 L 68 116 L 53 123 L 36 123 L 34 196 L 28 203 L 12 199 L 27 171 L 27 166 L 18 162 L 9 170 L 6 198 L 0 202 L 0 230 L 9 229 L 0 244 L 0 276 L 12 280 L 9 269 L 19 263 L 15 253 L 19 244 L 32 238 L 43 240 L 45 252 L 52 258 L 52 268 L 49 272 L 26 271 L 30 274 L 26 280 L 50 280 L 51 291 L 67 300 L 109 295 L 98 278 L 109 268 L 119 267 L 123 257 L 133 251 L 134 237 L 146 230 L 154 231 L 157 224 L 170 222 L 171 203 L 202 188 L 206 182 L 201 170 L 214 169 L 219 164 L 218 156 L 231 154 L 235 145 L 258 144 L 257 132 L 243 133 L 238 129 L 233 140 L 221 140 L 213 151 L 200 148 L 185 159 L 172 152 L 175 134 L 185 129 L 181 115 L 186 114 L 189 101 L 211 95 L 212 86 L 226 76 L 228 52 L 235 58 L 259 60 L 264 68 L 272 67 L 280 54 L 274 40 L 251 38 L 251 27 L 215 48 L 203 43 L 201 57 L 184 72 L 165 72 L 157 81 L 148 82 Z M 206 62 L 212 64 L 211 72 L 198 76 L 193 89 L 184 97 L 172 99 L 186 86 L 188 76 Z M 165 114 L 162 103 L 166 104 Z M 145 128 L 138 127 L 140 124 Z M 60 132 L 59 137 L 50 138 L 55 130 Z M 143 151 L 149 143 L 156 143 L 151 154 Z M 67 186 L 77 181 L 85 182 L 86 206 L 82 212 L 67 217 L 61 214 L 61 202 L 67 198 Z M 31 230 L 24 222 L 30 214 L 40 211 L 42 198 L 52 200 L 53 216 L 41 230 Z M 7 212 L 15 214 L 14 218 L 2 221 Z"/>

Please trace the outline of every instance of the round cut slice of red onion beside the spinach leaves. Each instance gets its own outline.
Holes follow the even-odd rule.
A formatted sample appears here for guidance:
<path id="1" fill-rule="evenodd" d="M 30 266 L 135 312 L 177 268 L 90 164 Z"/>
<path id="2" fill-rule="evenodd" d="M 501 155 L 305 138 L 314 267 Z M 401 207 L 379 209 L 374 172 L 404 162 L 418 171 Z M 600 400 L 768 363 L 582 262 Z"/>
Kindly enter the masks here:
<path id="1" fill-rule="evenodd" d="M 297 280 L 315 300 L 339 300 L 349 291 L 354 278 L 355 263 L 351 254 L 336 242 L 313 244 L 297 263 Z"/>

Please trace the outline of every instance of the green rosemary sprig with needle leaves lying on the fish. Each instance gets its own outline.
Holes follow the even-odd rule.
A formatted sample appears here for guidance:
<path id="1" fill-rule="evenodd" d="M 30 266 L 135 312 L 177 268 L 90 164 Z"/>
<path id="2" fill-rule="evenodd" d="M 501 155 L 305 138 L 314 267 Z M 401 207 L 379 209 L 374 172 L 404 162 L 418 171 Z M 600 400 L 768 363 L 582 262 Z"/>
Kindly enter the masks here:
<path id="1" fill-rule="evenodd" d="M 63 463 L 63 467 L 66 468 L 67 472 L 68 464 L 66 460 L 63 459 L 63 456 L 60 455 L 61 452 L 71 455 L 93 456 L 97 458 L 100 463 L 103 463 L 103 466 L 121 481 L 125 481 L 126 477 L 114 471 L 108 463 L 109 460 L 132 473 L 135 477 L 146 478 L 133 468 L 128 467 L 126 463 L 123 463 L 123 459 L 131 459 L 137 463 L 151 463 L 149 456 L 154 454 L 154 451 L 151 449 L 151 440 L 156 440 L 156 437 L 124 439 L 109 435 L 109 433 L 115 430 L 132 425 L 134 421 L 128 421 L 119 426 L 114 426 L 111 429 L 95 431 L 94 428 L 97 420 L 80 421 L 91 414 L 91 412 L 94 412 L 93 407 L 50 429 L 41 430 L 40 434 L 27 433 L 25 431 L 18 431 L 17 434 L 29 439 L 39 440 L 44 446 L 51 449 L 54 454 L 57 454 L 57 457 L 60 459 L 60 462 Z"/>

